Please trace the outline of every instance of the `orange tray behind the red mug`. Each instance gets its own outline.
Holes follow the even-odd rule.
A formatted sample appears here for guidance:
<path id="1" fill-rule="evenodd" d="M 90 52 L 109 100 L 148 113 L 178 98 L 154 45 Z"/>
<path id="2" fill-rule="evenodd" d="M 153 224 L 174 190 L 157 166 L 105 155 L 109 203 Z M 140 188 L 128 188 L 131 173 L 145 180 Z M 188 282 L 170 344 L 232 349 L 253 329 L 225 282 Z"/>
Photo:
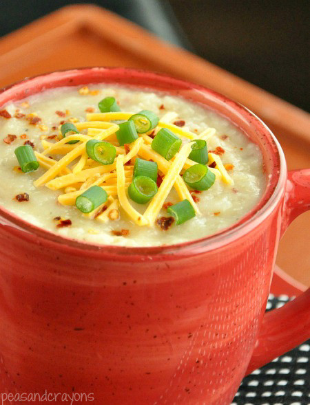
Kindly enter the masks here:
<path id="1" fill-rule="evenodd" d="M 205 85 L 262 118 L 280 141 L 289 169 L 310 166 L 306 112 L 103 8 L 67 6 L 0 41 L 1 87 L 25 76 L 85 66 L 150 69 Z M 308 212 L 290 226 L 277 258 L 282 270 L 304 285 L 310 285 L 310 255 L 304 249 L 309 228 Z M 276 280 L 282 280 L 283 274 L 276 271 Z M 298 283 L 296 287 L 296 291 L 304 288 Z"/>

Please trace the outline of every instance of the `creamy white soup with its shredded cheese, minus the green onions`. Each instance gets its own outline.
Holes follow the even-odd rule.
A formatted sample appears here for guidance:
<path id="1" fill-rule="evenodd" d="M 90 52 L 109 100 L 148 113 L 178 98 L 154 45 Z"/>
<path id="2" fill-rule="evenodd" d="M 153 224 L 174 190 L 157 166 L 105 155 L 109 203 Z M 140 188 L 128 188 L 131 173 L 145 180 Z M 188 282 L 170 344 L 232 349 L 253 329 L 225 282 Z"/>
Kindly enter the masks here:
<path id="1" fill-rule="evenodd" d="M 106 97 L 115 98 L 121 111 L 110 116 L 101 113 L 98 103 Z M 25 221 L 70 239 L 152 246 L 207 237 L 236 223 L 265 190 L 259 147 L 225 118 L 183 98 L 116 85 L 90 85 L 48 90 L 0 110 L 0 204 Z M 141 110 L 155 113 L 158 126 L 120 146 L 116 129 Z M 80 138 L 74 144 L 61 143 L 65 122 L 78 129 L 75 135 Z M 170 160 L 152 148 L 163 128 L 182 140 Z M 94 137 L 115 146 L 116 157 L 109 166 L 87 154 L 85 144 Z M 205 166 L 214 182 L 205 190 L 196 190 L 184 180 L 187 169 L 201 164 L 188 157 L 192 152 L 189 145 L 196 138 L 207 144 L 209 160 Z M 14 153 L 24 144 L 31 147 L 39 162 L 39 168 L 29 173 L 21 171 Z M 76 148 L 80 153 L 74 152 L 72 160 L 70 153 Z M 128 195 L 137 158 L 158 164 L 158 189 L 145 204 Z M 60 168 L 55 170 L 54 166 Z M 107 199 L 90 213 L 83 213 L 76 208 L 76 197 L 94 184 L 105 190 Z M 185 199 L 192 215 L 178 225 L 169 208 Z"/>

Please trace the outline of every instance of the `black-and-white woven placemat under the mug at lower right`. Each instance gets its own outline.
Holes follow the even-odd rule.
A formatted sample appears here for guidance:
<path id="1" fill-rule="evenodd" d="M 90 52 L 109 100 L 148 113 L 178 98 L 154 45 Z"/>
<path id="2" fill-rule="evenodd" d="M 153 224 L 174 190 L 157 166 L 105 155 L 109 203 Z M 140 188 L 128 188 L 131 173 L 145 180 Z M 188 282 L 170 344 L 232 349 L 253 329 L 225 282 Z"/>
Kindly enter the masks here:
<path id="1" fill-rule="evenodd" d="M 288 300 L 270 294 L 267 310 Z M 245 377 L 231 405 L 310 405 L 310 340 Z"/>

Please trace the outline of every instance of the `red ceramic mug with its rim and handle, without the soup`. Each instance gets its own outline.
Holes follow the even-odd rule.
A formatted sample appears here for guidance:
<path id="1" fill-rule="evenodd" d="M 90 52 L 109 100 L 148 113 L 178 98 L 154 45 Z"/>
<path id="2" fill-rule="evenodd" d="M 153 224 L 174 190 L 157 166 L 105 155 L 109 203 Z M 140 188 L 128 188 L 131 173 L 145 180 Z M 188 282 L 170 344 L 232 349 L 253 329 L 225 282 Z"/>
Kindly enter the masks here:
<path id="1" fill-rule="evenodd" d="M 279 239 L 310 205 L 310 170 L 287 178 L 271 131 L 236 102 L 151 72 L 47 74 L 3 89 L 0 106 L 88 83 L 154 89 L 218 111 L 260 146 L 268 186 L 231 228 L 154 248 L 72 241 L 0 208 L 0 393 L 74 393 L 74 403 L 100 405 L 230 404 L 246 373 L 310 337 L 309 290 L 265 315 Z"/>

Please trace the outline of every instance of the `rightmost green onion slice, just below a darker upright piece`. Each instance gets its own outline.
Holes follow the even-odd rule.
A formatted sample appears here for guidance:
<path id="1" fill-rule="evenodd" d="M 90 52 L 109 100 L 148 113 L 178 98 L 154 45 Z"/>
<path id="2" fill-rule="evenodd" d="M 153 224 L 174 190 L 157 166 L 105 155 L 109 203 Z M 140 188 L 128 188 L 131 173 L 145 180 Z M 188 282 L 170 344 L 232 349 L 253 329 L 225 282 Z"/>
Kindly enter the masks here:
<path id="1" fill-rule="evenodd" d="M 194 164 L 185 170 L 183 180 L 194 190 L 207 190 L 215 182 L 216 176 L 204 164 Z"/>

